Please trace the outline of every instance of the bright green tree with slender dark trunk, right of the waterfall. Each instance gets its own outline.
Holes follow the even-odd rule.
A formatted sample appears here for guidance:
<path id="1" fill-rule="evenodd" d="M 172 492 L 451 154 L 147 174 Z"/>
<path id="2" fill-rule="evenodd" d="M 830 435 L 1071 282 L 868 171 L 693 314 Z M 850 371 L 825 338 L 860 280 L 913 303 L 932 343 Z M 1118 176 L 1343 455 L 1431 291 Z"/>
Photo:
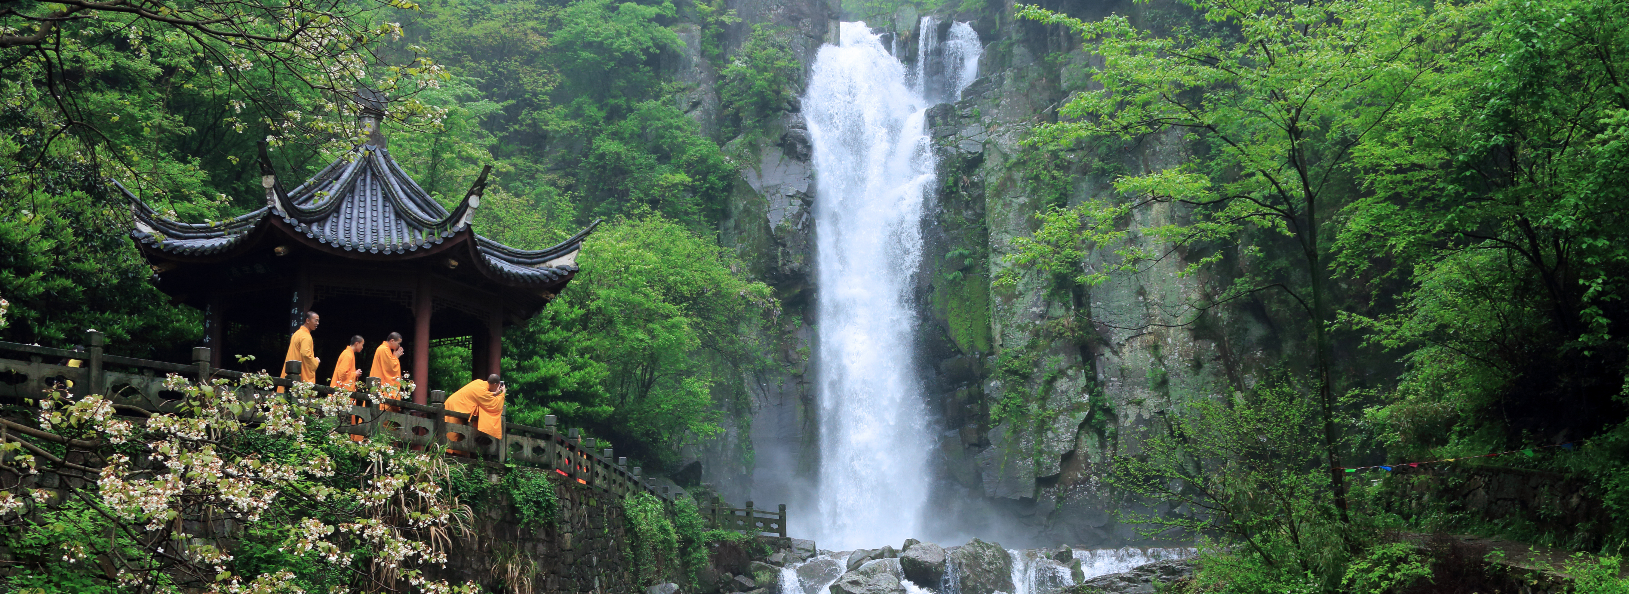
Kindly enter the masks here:
<path id="1" fill-rule="evenodd" d="M 1168 259 L 1181 259 L 1192 273 L 1228 257 L 1262 260 L 1266 249 L 1293 254 L 1279 267 L 1212 286 L 1209 298 L 1188 306 L 1197 314 L 1258 293 L 1287 296 L 1311 334 L 1306 379 L 1323 407 L 1324 472 L 1344 518 L 1329 335 L 1333 215 L 1350 199 L 1354 146 L 1419 94 L 1466 13 L 1455 5 L 1427 10 L 1370 0 L 1186 5 L 1194 20 L 1163 34 L 1124 16 L 1085 23 L 1038 7 L 1020 11 L 1069 26 L 1104 59 L 1093 72 L 1103 90 L 1075 94 L 1059 109 L 1064 120 L 1036 129 L 1030 145 L 1163 137 L 1191 143 L 1197 158 L 1117 177 L 1114 187 L 1126 199 L 1100 197 L 1043 215 L 1046 226 L 1036 239 L 1016 242 L 1013 262 L 1080 270 L 1087 262 L 1057 257 L 1077 257 L 1082 242 L 1113 249 L 1111 270 L 1122 273 Z M 1158 226 L 1132 223 L 1129 234 L 1121 228 L 1132 210 L 1165 205 L 1183 215 Z"/>

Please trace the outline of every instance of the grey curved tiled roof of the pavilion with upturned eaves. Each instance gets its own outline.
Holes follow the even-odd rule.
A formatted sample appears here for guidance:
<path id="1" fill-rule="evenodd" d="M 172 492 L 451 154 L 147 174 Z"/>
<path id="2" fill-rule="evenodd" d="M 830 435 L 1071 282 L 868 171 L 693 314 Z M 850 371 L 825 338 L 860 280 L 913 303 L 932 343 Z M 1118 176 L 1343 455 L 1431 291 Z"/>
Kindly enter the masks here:
<path id="1" fill-rule="evenodd" d="M 469 231 L 479 267 L 489 277 L 505 285 L 544 286 L 560 285 L 577 273 L 577 252 L 599 225 L 595 221 L 549 249 L 528 251 L 500 244 L 469 229 L 474 210 L 481 207 L 490 166 L 481 171 L 464 200 L 446 212 L 402 171 L 389 150 L 378 145 L 358 146 L 290 192 L 277 184 L 264 146 L 261 169 L 270 186 L 267 205 L 222 223 L 194 225 L 165 218 L 119 186 L 135 215 L 132 234 L 142 244 L 169 254 L 212 256 L 241 244 L 244 236 L 269 218 L 279 218 L 295 233 L 344 252 L 409 254 Z"/>

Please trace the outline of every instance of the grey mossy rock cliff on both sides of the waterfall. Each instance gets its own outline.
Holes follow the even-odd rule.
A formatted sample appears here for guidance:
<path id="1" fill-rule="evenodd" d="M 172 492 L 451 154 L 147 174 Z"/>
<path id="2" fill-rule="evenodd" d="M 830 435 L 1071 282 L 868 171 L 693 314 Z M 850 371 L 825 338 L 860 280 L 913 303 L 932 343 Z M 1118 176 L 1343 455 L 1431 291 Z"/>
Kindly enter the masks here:
<path id="1" fill-rule="evenodd" d="M 805 75 L 839 18 L 839 8 L 826 0 L 741 0 L 733 7 L 743 23 L 731 29 L 730 47 L 740 46 L 741 31 L 753 23 L 782 24 L 797 41 Z M 1144 21 L 1173 11 L 1131 2 L 1054 8 L 1083 18 L 1119 11 Z M 986 50 L 981 78 L 963 99 L 929 111 L 940 184 L 924 221 L 919 355 L 942 428 L 932 506 L 942 524 L 929 535 L 1087 547 L 1145 540 L 1113 519 L 1113 509 L 1140 506 L 1104 483 L 1103 462 L 1135 452 L 1137 435 L 1173 405 L 1245 389 L 1251 369 L 1276 360 L 1264 347 L 1274 342 L 1274 330 L 1248 308 L 1217 314 L 1225 322 L 1157 325 L 1178 316 L 1157 304 L 1183 303 L 1199 291 L 1199 278 L 1176 275 L 1184 265 L 1179 259 L 1091 288 L 1059 286 L 1033 273 L 1013 286 L 992 283 L 1008 267 L 1002 257 L 1013 238 L 1038 226 L 1036 212 L 1111 195 L 1114 173 L 1155 171 L 1189 158 L 1171 137 L 1082 146 L 1051 164 L 1067 184 L 1062 192 L 1036 190 L 1025 174 L 1033 169 L 1025 159 L 1033 156 L 1021 142 L 1034 125 L 1056 120 L 1069 94 L 1088 88 L 1093 57 L 1065 31 L 1010 15 L 1010 2 L 937 15 L 945 26 L 973 21 Z M 919 18 L 907 7 L 886 26 L 906 41 Z M 896 47 L 915 52 L 914 42 Z M 694 67 L 681 72 L 691 86 L 679 101 L 704 127 L 718 130 L 717 75 L 699 49 L 683 63 Z M 741 177 L 720 238 L 757 278 L 775 286 L 795 322 L 782 329 L 775 353 L 780 371 L 748 379 L 757 389 L 751 428 L 735 428 L 694 452 L 702 482 L 727 498 L 785 501 L 795 518 L 813 509 L 805 495 L 818 461 L 814 395 L 805 376 L 814 340 L 805 311 L 813 312 L 810 205 L 818 177 L 801 122 L 792 103 L 727 145 Z M 1181 213 L 1139 216 L 1132 225 L 1152 226 Z M 798 521 L 790 524 L 797 532 Z"/>

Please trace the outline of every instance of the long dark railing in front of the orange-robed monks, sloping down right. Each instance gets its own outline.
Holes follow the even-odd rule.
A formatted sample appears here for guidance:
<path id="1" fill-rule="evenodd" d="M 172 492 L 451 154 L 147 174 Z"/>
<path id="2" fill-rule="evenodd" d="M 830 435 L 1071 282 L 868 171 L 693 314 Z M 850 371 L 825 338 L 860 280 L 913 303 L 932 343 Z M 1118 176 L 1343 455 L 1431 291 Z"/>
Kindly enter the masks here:
<path id="1" fill-rule="evenodd" d="M 103 394 L 114 402 L 114 408 L 138 408 L 143 412 L 173 413 L 178 410 L 179 394 L 165 389 L 165 378 L 171 373 L 192 376 L 199 381 L 209 379 L 241 379 L 243 371 L 217 369 L 210 366 L 210 350 L 199 347 L 192 350 L 192 365 L 168 361 L 138 360 L 130 356 L 106 355 L 106 342 L 101 332 L 85 332 L 86 350 L 65 350 L 39 345 L 23 345 L 0 342 L 0 352 L 28 353 L 29 360 L 15 360 L 0 355 L 0 400 L 34 399 L 50 389 L 73 386 L 73 394 Z M 55 358 L 60 363 L 46 363 Z M 293 363 L 293 361 L 290 361 Z M 293 363 L 298 365 L 298 363 Z M 370 378 L 371 379 L 371 378 Z M 293 387 L 293 381 L 272 378 L 280 387 Z M 445 392 L 432 391 L 430 405 L 411 400 L 381 399 L 373 387 L 353 392 L 367 402 L 383 402 L 397 407 L 401 412 L 380 410 L 376 405 L 357 405 L 350 415 L 362 418 L 362 423 L 340 425 L 342 431 L 371 436 L 384 433 L 391 441 L 406 448 L 448 446 L 469 452 L 474 459 L 497 464 L 518 464 L 555 472 L 567 480 L 575 480 L 590 488 L 611 495 L 627 495 L 645 491 L 663 500 L 670 506 L 679 493 L 673 493 L 670 485 L 658 485 L 655 477 L 643 477 L 642 467 L 627 467 L 627 457 L 614 457 L 611 448 L 598 448 L 595 438 L 583 438 L 578 430 L 559 431 L 554 426 L 554 415 L 546 417 L 544 426 L 526 426 L 520 423 L 503 423 L 503 438 L 494 439 L 476 431 L 471 425 L 446 423 L 445 417 L 469 421 L 468 413 L 441 408 Z M 314 387 L 319 394 L 334 394 L 337 389 L 327 386 Z M 236 387 L 238 397 L 251 402 L 267 397 L 274 389 L 262 391 L 252 386 Z M 244 421 L 252 420 L 251 412 L 244 413 Z M 456 435 L 450 439 L 448 435 Z M 710 529 L 743 531 L 753 534 L 787 535 L 787 506 L 779 511 L 754 509 L 748 501 L 746 508 L 730 508 L 722 500 L 700 503 L 702 518 Z"/>

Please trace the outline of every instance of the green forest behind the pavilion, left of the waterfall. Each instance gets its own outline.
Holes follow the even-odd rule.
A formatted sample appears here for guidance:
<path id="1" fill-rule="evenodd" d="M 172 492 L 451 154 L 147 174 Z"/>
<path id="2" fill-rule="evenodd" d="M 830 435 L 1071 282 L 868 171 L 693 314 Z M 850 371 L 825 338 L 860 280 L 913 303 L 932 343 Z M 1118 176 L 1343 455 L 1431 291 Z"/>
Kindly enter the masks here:
<path id="1" fill-rule="evenodd" d="M 5 16 L 16 31 L 49 29 L 7 37 L 5 117 L 16 133 L 3 146 L 0 225 L 8 244 L 28 246 L 7 251 L 0 272 L 0 295 L 15 304 L 8 340 L 72 345 L 96 327 L 119 352 L 186 356 L 202 332 L 199 312 L 166 306 L 148 285 L 122 197 L 103 179 L 186 221 L 235 216 L 264 200 L 254 142 L 272 142 L 272 163 L 285 174 L 308 176 L 358 138 L 352 99 L 375 90 L 391 99 L 393 155 L 443 203 L 461 197 L 482 166 L 495 166 L 497 184 L 474 223 L 481 233 L 541 249 L 613 216 L 585 249 L 585 277 L 533 321 L 541 334 L 508 337 L 513 366 L 505 368 L 518 369 L 516 392 L 526 394 L 520 418 L 560 413 L 614 441 L 632 439 L 658 462 L 671 451 L 640 444 L 710 435 L 715 397 L 741 408 L 731 404 L 744 397 L 741 373 L 762 356 L 751 342 L 725 337 L 751 334 L 777 309 L 717 247 L 735 169 L 720 143 L 673 106 L 671 76 L 658 70 L 681 44 L 679 7 L 248 8 L 261 13 L 215 3 L 134 11 L 28 3 Z M 165 10 L 191 21 L 228 15 L 233 29 L 181 23 Z M 727 15 L 712 5 L 683 10 L 714 23 L 717 44 Z M 784 101 L 793 65 L 784 42 L 757 36 L 754 47 L 767 62 L 728 70 L 741 81 L 728 96 L 731 109 L 764 117 L 761 104 Z M 596 273 L 601 265 L 619 273 Z M 650 283 L 666 288 L 650 291 Z M 458 369 L 468 348 L 437 360 L 438 369 Z"/>

